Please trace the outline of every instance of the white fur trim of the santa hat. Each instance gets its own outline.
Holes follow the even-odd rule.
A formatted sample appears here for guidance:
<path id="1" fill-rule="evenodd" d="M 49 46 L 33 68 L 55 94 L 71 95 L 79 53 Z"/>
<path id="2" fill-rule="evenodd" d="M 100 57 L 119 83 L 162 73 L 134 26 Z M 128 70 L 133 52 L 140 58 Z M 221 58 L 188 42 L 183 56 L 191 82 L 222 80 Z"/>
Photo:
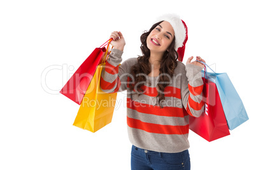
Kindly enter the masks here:
<path id="1" fill-rule="evenodd" d="M 180 19 L 180 16 L 174 13 L 162 15 L 157 18 L 155 23 L 160 22 L 162 20 L 171 23 L 171 26 L 173 27 L 174 36 L 175 36 L 174 49 L 177 51 L 178 48 L 183 46 L 183 42 L 186 37 L 186 30 Z"/>

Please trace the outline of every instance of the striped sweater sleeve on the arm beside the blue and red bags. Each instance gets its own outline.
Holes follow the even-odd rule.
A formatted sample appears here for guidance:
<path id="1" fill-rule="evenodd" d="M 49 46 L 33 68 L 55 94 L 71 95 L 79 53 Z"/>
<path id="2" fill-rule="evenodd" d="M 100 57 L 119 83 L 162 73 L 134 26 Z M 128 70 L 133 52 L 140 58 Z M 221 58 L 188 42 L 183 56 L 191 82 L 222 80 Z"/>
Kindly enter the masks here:
<path id="1" fill-rule="evenodd" d="M 181 90 L 183 107 L 189 115 L 199 117 L 204 111 L 202 69 L 189 64 L 186 65 L 185 70 L 186 76 L 182 78 L 183 89 Z"/>

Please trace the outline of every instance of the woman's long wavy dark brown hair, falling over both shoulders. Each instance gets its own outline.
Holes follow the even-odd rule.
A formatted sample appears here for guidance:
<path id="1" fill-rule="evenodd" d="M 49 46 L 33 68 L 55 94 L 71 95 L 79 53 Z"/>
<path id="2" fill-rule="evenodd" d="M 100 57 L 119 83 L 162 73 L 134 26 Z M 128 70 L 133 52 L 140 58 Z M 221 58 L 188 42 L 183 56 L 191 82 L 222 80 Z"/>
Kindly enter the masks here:
<path id="1" fill-rule="evenodd" d="M 163 22 L 163 21 L 161 21 L 161 22 Z M 143 92 L 142 87 L 144 84 L 141 82 L 146 81 L 145 74 L 148 75 L 152 71 L 151 65 L 148 60 L 150 58 L 150 49 L 148 49 L 148 47 L 146 46 L 146 39 L 147 39 L 148 35 L 150 34 L 150 32 L 152 32 L 152 30 L 155 29 L 155 27 L 157 27 L 157 25 L 159 25 L 161 22 L 155 23 L 154 25 L 152 25 L 152 27 L 150 28 L 150 30 L 148 32 L 144 32 L 141 35 L 141 47 L 140 48 L 141 48 L 143 55 L 138 56 L 138 63 L 131 67 L 131 74 L 134 79 L 134 84 L 130 84 L 130 86 L 129 86 L 129 89 L 131 89 L 131 91 L 133 91 L 136 84 L 138 84 L 140 82 L 136 86 L 136 89 L 135 89 L 135 91 L 137 91 L 138 95 L 143 94 L 141 92 Z M 165 99 L 164 94 L 163 94 L 164 88 L 166 88 L 166 86 L 171 81 L 169 79 L 169 77 L 173 77 L 174 69 L 177 66 L 178 53 L 174 49 L 174 44 L 175 44 L 175 37 L 174 37 L 173 41 L 171 42 L 169 48 L 167 48 L 166 52 L 162 56 L 162 60 L 160 62 L 159 82 L 161 82 L 161 83 L 157 84 L 158 95 L 156 96 L 157 101 L 160 105 L 160 108 L 163 108 L 161 105 L 161 101 Z"/>

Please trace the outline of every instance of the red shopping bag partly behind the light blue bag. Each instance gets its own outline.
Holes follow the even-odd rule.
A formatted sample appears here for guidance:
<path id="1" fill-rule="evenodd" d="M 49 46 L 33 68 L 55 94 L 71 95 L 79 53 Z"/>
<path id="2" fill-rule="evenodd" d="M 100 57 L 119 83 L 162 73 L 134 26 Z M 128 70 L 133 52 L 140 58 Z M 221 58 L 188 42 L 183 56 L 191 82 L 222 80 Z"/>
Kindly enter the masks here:
<path id="1" fill-rule="evenodd" d="M 204 113 L 200 117 L 189 117 L 189 128 L 207 141 L 229 135 L 222 102 L 214 82 L 204 79 Z"/>

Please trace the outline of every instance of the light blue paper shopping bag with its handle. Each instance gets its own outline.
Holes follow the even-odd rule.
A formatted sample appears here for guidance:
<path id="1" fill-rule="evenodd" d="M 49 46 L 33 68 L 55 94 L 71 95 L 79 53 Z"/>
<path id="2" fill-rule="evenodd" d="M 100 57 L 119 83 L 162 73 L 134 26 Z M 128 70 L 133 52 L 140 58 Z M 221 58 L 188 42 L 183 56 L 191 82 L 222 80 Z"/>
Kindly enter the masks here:
<path id="1" fill-rule="evenodd" d="M 206 63 L 203 64 L 206 65 Z M 206 66 L 210 68 L 208 65 Z M 248 121 L 249 118 L 243 105 L 243 101 L 239 97 L 238 92 L 234 88 L 227 73 L 216 73 L 214 71 L 207 72 L 207 70 L 205 72 L 202 70 L 201 73 L 203 76 L 206 75 L 206 79 L 215 82 L 229 129 L 232 130 L 237 128 L 239 125 Z"/>

